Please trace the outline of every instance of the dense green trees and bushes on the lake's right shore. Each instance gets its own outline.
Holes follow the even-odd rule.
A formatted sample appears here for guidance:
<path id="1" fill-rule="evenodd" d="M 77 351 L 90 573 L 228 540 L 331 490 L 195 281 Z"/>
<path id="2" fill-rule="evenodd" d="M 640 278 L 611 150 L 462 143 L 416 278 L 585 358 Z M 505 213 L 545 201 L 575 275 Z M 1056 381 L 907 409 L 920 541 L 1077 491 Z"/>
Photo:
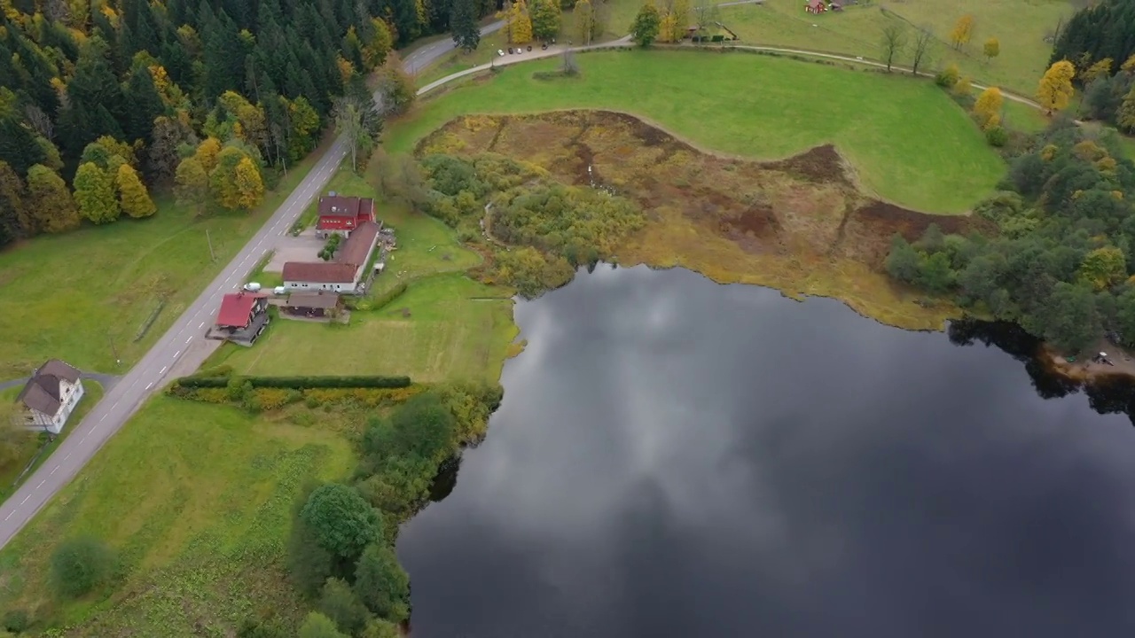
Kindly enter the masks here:
<path id="1" fill-rule="evenodd" d="M 1058 118 L 975 208 L 987 232 L 896 235 L 888 272 L 1063 352 L 1105 333 L 1135 345 L 1135 163 L 1112 135 Z"/>

